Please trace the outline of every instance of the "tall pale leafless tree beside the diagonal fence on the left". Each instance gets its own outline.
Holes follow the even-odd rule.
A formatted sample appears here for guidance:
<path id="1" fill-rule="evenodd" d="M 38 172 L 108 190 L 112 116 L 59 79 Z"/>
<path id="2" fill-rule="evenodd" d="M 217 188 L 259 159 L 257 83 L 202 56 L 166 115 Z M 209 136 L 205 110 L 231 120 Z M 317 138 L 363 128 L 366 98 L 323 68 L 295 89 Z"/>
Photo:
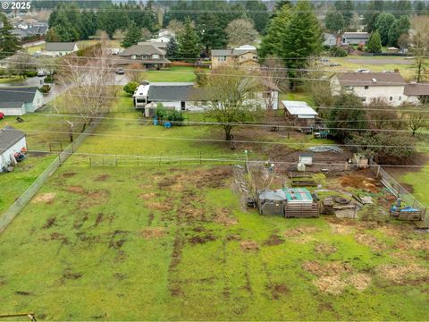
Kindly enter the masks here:
<path id="1" fill-rule="evenodd" d="M 114 60 L 109 55 L 103 36 L 100 45 L 94 47 L 93 55 L 87 60 L 67 56 L 63 59 L 60 83 L 65 89 L 62 106 L 57 112 L 79 116 L 81 131 L 90 125 L 97 116 L 108 111 L 114 98 Z M 75 117 L 63 116 L 69 124 L 70 139 L 73 140 Z"/>

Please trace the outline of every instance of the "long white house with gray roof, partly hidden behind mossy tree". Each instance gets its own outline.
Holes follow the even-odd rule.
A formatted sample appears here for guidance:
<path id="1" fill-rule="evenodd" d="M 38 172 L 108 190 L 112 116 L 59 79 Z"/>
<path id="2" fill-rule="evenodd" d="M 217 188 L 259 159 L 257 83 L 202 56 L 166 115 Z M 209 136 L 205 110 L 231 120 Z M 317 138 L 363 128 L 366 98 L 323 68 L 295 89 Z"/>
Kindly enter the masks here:
<path id="1" fill-rule="evenodd" d="M 192 82 L 145 82 L 135 91 L 133 99 L 136 109 L 145 109 L 148 104 L 155 102 L 177 111 L 204 111 L 210 99 L 207 90 L 209 89 L 195 87 Z M 277 98 L 278 92 L 275 89 L 257 92 L 246 103 L 260 108 L 271 106 L 277 109 L 277 100 L 268 102 L 266 95 Z"/>

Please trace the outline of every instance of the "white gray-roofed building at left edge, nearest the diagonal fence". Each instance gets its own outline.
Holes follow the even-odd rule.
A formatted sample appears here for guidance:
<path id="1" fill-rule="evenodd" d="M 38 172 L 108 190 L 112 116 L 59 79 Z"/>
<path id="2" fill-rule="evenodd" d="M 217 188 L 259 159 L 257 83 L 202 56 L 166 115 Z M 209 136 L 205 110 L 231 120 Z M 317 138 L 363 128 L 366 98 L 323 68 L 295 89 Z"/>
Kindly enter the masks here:
<path id="1" fill-rule="evenodd" d="M 0 130 L 0 173 L 4 172 L 9 165 L 15 165 L 15 153 L 27 150 L 25 133 L 6 126 Z"/>

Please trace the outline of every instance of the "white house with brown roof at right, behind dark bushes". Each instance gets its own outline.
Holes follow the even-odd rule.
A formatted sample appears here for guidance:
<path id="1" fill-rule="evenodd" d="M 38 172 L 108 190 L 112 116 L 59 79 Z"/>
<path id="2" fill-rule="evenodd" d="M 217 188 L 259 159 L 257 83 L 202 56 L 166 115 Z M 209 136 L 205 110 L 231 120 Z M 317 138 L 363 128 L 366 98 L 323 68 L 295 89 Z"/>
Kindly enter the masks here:
<path id="1" fill-rule="evenodd" d="M 407 101 L 404 92 L 406 81 L 399 72 L 342 72 L 331 78 L 332 95 L 341 90 L 353 92 L 365 105 L 383 100 L 391 106 L 400 106 Z"/>

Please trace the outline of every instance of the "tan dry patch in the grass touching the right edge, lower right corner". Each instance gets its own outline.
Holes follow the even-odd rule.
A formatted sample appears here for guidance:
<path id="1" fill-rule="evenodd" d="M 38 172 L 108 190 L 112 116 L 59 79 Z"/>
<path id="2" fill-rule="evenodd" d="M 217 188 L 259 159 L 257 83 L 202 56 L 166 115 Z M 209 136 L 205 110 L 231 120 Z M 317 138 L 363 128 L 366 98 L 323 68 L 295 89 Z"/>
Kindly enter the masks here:
<path id="1" fill-rule="evenodd" d="M 418 281 L 429 282 L 427 268 L 410 263 L 407 266 L 398 264 L 386 264 L 376 267 L 376 271 L 384 279 L 394 284 L 414 284 Z"/>

